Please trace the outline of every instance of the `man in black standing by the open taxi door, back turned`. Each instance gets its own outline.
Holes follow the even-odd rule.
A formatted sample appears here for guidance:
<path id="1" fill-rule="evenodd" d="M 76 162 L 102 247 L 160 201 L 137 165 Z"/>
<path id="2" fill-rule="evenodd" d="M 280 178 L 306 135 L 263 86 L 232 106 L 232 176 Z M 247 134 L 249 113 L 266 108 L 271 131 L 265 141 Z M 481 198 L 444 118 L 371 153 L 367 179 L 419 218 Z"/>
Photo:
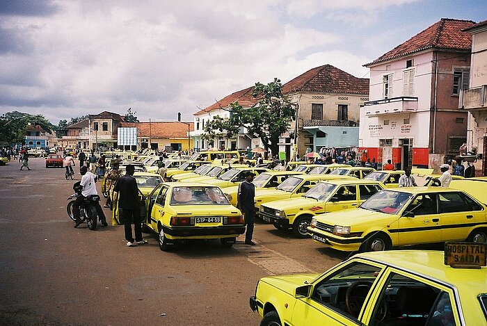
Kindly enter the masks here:
<path id="1" fill-rule="evenodd" d="M 141 209 L 138 202 L 137 181 L 134 175 L 134 165 L 127 165 L 127 172 L 118 178 L 114 191 L 118 193 L 118 214 L 125 229 L 127 247 L 134 247 L 147 243 L 142 238 Z M 132 223 L 134 223 L 135 240 L 132 237 Z"/>

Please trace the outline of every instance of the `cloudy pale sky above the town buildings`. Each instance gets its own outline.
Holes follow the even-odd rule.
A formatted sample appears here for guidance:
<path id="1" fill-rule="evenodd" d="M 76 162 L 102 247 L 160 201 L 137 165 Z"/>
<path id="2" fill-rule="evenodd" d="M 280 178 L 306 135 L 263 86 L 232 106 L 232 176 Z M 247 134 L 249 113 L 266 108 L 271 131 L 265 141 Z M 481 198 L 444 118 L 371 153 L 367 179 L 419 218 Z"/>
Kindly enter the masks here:
<path id="1" fill-rule="evenodd" d="M 362 67 L 484 0 L 0 0 L 0 114 L 185 121 L 232 92 Z"/>

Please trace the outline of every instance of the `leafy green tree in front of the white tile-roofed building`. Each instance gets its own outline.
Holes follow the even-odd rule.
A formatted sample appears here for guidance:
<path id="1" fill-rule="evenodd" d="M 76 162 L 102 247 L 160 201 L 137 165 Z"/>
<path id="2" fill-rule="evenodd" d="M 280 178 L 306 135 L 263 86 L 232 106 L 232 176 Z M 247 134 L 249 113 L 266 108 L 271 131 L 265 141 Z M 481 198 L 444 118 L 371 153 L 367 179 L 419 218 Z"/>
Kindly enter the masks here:
<path id="1" fill-rule="evenodd" d="M 277 78 L 267 85 L 255 83 L 252 95 L 257 99 L 255 106 L 242 108 L 238 102 L 230 104 L 230 117 L 223 119 L 216 115 L 205 125 L 203 137 L 207 140 L 232 138 L 239 134 L 241 127 L 246 127 L 250 137 L 260 138 L 265 149 L 277 154 L 279 137 L 289 130 L 290 122 L 296 117 L 296 109 L 282 95 L 282 84 Z"/>

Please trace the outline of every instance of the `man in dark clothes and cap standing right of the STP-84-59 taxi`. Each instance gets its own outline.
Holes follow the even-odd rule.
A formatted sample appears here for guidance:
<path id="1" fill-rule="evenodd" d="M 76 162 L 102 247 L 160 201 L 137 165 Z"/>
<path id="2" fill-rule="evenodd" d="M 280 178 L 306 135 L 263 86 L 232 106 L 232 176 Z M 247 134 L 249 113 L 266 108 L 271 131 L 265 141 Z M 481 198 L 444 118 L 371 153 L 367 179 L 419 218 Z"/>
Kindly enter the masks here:
<path id="1" fill-rule="evenodd" d="M 255 185 L 252 183 L 255 173 L 248 171 L 245 174 L 245 181 L 239 184 L 237 193 L 237 208 L 244 215 L 244 221 L 247 225 L 245 234 L 246 245 L 255 245 L 252 241 L 255 222 Z"/>

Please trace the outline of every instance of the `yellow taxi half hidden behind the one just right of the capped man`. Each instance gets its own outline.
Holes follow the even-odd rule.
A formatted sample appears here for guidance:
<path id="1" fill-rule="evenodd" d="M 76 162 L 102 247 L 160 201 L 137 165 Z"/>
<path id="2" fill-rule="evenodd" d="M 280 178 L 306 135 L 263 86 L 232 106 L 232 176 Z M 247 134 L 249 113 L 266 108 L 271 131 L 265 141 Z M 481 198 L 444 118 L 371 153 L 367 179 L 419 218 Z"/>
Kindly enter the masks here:
<path id="1" fill-rule="evenodd" d="M 260 205 L 273 200 L 301 197 L 316 186 L 319 181 L 332 179 L 355 179 L 329 174 L 296 174 L 282 181 L 276 188 L 264 188 L 255 190 L 255 209 L 259 211 Z"/>

